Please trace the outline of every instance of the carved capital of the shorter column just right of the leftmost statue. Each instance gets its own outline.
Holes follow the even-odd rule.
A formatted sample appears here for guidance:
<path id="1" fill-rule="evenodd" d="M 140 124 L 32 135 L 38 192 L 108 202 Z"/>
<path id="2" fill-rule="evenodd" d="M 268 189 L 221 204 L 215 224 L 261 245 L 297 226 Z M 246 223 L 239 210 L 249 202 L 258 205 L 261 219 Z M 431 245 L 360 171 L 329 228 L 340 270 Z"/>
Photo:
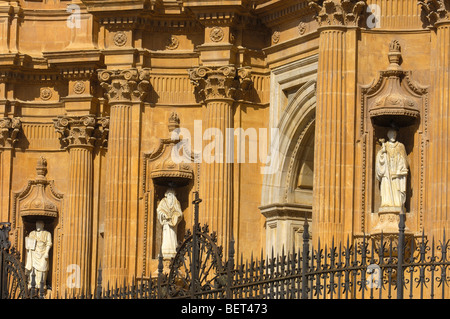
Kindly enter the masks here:
<path id="1" fill-rule="evenodd" d="M 62 116 L 54 120 L 64 147 L 105 147 L 108 139 L 109 118 L 94 115 Z"/>

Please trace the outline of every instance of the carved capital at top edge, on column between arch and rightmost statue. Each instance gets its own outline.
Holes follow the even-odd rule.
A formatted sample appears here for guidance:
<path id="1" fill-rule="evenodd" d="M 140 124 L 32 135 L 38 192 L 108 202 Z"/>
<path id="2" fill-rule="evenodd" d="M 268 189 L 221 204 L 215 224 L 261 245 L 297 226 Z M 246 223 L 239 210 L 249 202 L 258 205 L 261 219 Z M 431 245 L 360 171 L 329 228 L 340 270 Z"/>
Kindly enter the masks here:
<path id="1" fill-rule="evenodd" d="M 320 26 L 358 26 L 366 8 L 364 0 L 314 0 L 309 7 L 316 12 Z"/>

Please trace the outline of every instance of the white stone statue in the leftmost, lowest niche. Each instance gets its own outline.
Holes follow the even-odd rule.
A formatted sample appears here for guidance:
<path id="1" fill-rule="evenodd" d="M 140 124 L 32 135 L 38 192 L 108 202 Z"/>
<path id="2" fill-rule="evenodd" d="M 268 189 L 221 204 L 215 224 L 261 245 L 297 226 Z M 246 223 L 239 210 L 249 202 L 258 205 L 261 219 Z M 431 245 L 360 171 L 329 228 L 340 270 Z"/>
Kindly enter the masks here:
<path id="1" fill-rule="evenodd" d="M 25 249 L 27 251 L 25 269 L 30 274 L 29 287 L 31 287 L 31 274 L 34 270 L 36 287 L 40 287 L 40 283 L 43 281 L 44 289 L 46 289 L 45 282 L 49 269 L 48 254 L 51 247 L 52 235 L 50 232 L 44 230 L 44 222 L 38 220 L 36 222 L 36 230 L 33 230 L 25 237 Z"/>

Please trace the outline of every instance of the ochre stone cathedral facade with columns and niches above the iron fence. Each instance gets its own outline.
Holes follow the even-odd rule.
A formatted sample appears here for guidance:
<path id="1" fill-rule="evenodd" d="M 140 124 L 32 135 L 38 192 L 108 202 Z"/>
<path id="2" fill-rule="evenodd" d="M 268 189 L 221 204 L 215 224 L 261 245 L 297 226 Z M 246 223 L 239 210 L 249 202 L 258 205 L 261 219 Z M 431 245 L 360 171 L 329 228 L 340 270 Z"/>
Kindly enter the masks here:
<path id="1" fill-rule="evenodd" d="M 305 220 L 323 243 L 395 235 L 399 214 L 408 235 L 442 236 L 449 12 L 1 1 L 0 221 L 24 258 L 44 222 L 53 292 L 94 287 L 100 266 L 105 282 L 151 277 L 197 192 L 200 223 L 244 259 L 300 247 Z"/>

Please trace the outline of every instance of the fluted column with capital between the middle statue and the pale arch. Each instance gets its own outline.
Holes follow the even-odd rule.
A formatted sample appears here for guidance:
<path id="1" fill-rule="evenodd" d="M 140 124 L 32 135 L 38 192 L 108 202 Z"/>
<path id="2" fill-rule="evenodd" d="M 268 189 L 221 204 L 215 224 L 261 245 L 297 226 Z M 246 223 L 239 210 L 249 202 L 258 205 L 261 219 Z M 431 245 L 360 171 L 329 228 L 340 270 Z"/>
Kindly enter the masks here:
<path id="1" fill-rule="evenodd" d="M 190 70 L 190 78 L 204 104 L 202 129 L 215 130 L 214 137 L 203 145 L 211 146 L 214 141 L 214 150 L 202 148 L 200 197 L 203 207 L 199 220 L 217 232 L 218 244 L 226 251 L 233 227 L 234 161 L 234 135 L 227 137 L 227 129 L 234 128 L 235 100 L 251 85 L 250 70 L 234 66 L 199 67 Z"/>

